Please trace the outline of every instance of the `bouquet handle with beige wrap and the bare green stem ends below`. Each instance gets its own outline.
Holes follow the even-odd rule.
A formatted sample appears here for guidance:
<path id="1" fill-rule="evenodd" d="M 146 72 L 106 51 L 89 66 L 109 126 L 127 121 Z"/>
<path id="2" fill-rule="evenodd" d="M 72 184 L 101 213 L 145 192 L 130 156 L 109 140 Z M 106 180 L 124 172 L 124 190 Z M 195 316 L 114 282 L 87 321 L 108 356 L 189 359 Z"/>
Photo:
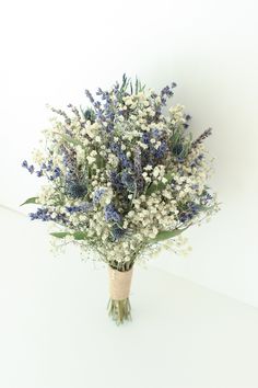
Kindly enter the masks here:
<path id="1" fill-rule="evenodd" d="M 109 301 L 108 313 L 119 324 L 131 319 L 131 306 L 129 300 L 132 270 L 118 271 L 108 266 L 109 275 Z"/>

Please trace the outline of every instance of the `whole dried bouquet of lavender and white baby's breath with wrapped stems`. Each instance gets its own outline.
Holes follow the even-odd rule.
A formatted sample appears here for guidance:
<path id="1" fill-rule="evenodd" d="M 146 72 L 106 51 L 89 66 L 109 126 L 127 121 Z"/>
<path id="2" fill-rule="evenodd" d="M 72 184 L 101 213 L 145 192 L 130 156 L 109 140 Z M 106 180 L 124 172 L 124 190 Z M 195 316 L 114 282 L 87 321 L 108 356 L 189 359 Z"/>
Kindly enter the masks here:
<path id="1" fill-rule="evenodd" d="M 211 129 L 192 139 L 184 106 L 165 111 L 175 87 L 156 93 L 124 76 L 96 99 L 86 90 L 91 107 L 51 109 L 36 167 L 23 162 L 44 180 L 24 203 L 38 205 L 31 219 L 54 222 L 56 241 L 107 263 L 108 310 L 118 323 L 130 318 L 134 263 L 164 244 L 177 251 L 180 235 L 218 210 L 207 186 Z"/>

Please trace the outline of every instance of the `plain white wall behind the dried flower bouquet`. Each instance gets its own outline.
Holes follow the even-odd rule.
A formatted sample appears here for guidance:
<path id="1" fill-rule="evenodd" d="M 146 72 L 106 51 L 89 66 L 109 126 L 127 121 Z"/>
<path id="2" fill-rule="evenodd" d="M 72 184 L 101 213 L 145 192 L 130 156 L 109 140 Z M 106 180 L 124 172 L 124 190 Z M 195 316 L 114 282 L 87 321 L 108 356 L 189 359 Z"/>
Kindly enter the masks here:
<path id="1" fill-rule="evenodd" d="M 154 263 L 258 306 L 256 1 L 9 1 L 0 36 L 0 204 L 17 208 L 36 181 L 20 168 L 47 124 L 46 103 L 84 103 L 84 89 L 122 72 L 153 88 L 176 81 L 192 130 L 214 129 L 213 186 L 223 203 L 189 231 L 188 259 Z"/>

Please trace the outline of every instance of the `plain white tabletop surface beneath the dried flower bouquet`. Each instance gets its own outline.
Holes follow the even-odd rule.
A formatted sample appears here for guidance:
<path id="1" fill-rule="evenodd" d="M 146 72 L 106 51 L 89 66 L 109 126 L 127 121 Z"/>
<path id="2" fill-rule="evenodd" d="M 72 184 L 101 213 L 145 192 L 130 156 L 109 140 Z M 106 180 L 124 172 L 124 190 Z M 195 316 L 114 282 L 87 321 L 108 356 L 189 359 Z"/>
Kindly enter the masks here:
<path id="1" fill-rule="evenodd" d="M 116 327 L 104 266 L 52 256 L 44 224 L 0 220 L 0 388 L 258 387 L 256 308 L 150 262 Z"/>

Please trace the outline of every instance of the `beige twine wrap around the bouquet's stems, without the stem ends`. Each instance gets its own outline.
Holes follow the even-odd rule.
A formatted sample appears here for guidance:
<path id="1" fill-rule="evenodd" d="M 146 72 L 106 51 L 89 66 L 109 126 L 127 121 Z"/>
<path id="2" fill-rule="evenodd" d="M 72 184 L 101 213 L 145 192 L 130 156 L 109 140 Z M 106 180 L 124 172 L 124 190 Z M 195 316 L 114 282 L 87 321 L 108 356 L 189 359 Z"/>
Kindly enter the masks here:
<path id="1" fill-rule="evenodd" d="M 129 297 L 131 287 L 132 267 L 129 271 L 120 272 L 108 267 L 109 295 L 113 300 L 125 300 Z"/>

